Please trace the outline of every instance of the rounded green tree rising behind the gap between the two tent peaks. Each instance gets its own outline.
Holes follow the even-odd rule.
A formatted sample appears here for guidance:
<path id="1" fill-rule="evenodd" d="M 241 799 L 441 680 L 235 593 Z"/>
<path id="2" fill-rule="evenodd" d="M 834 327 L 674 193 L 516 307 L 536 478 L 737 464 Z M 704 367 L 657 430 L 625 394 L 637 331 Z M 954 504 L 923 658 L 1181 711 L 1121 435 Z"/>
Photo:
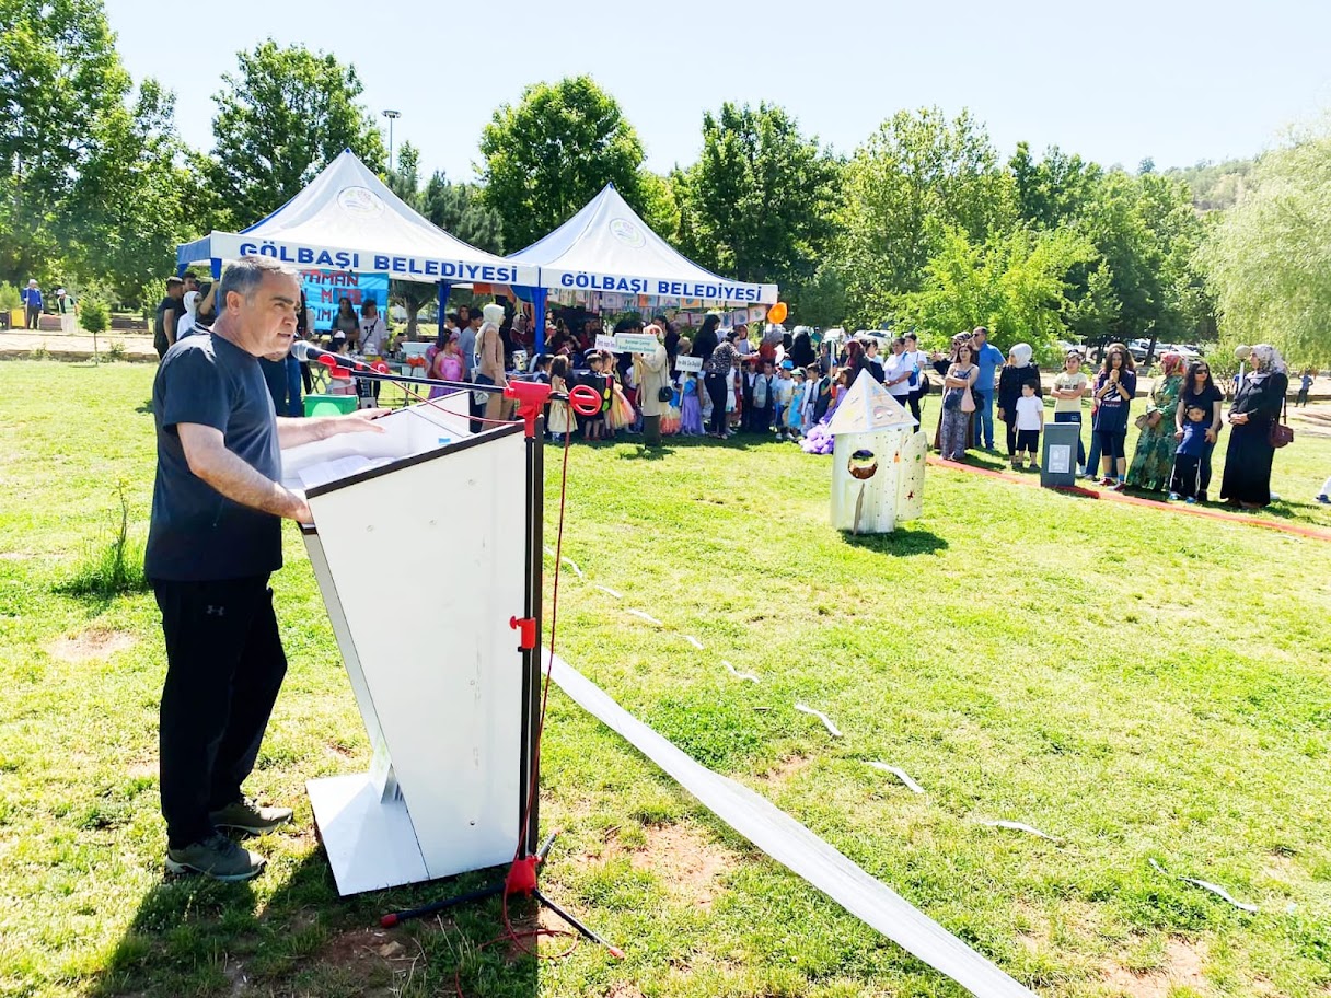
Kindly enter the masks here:
<path id="1" fill-rule="evenodd" d="M 619 102 L 590 76 L 527 86 L 480 134 L 484 200 L 503 218 L 504 245 L 535 242 L 607 182 L 646 214 L 643 144 Z"/>

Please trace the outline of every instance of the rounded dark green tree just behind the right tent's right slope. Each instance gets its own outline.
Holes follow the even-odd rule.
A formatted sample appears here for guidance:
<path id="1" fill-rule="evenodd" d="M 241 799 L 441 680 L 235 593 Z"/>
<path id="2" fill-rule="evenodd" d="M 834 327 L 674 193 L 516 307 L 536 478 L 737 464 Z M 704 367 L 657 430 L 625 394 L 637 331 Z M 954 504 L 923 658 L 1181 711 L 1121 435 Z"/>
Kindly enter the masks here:
<path id="1" fill-rule="evenodd" d="M 836 233 L 836 160 L 783 108 L 731 102 L 703 116 L 703 152 L 681 176 L 685 253 L 740 281 L 797 289 Z"/>

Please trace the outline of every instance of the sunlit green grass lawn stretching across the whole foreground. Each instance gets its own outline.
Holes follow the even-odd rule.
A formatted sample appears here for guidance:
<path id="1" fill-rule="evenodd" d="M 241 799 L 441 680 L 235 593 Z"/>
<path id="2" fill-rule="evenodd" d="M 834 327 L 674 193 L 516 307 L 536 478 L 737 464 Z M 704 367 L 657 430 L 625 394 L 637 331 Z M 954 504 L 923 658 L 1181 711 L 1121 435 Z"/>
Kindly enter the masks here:
<path id="1" fill-rule="evenodd" d="M 467 994 L 504 998 L 962 994 L 558 692 L 543 882 L 627 958 L 482 950 L 498 904 L 381 934 L 442 892 L 337 898 L 303 782 L 370 753 L 294 530 L 252 789 L 297 826 L 258 841 L 249 885 L 165 880 L 156 607 L 68 587 L 118 482 L 146 524 L 152 375 L 0 365 L 0 994 L 437 995 L 459 962 Z M 1300 434 L 1260 515 L 1331 527 L 1328 471 L 1331 439 Z M 1044 995 L 1331 995 L 1331 544 L 940 468 L 922 519 L 852 539 L 827 526 L 829 475 L 741 439 L 575 447 L 564 552 L 587 578 L 562 576 L 559 652 Z"/>

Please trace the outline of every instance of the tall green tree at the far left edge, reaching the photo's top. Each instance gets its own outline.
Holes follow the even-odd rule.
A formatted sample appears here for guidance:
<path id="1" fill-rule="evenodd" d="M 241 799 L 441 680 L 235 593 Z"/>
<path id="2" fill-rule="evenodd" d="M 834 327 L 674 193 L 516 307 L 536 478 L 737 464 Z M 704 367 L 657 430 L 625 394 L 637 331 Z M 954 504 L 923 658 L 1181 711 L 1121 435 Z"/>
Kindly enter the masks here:
<path id="1" fill-rule="evenodd" d="M 98 0 L 0 0 L 0 281 L 134 298 L 186 233 L 173 97 L 134 89 Z"/>

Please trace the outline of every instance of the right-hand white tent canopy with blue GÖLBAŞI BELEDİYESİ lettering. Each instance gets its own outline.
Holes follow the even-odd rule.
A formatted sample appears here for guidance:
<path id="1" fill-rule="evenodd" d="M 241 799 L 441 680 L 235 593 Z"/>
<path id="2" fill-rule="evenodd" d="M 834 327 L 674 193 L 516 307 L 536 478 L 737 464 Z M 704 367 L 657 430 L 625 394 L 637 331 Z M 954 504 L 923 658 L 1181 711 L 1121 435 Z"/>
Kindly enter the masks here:
<path id="1" fill-rule="evenodd" d="M 700 267 L 654 233 L 614 184 L 550 236 L 508 257 L 519 267 L 538 267 L 540 286 L 662 298 L 692 298 L 709 305 L 775 305 L 776 285 L 729 281 Z M 536 349 L 544 338 L 538 306 Z"/>

